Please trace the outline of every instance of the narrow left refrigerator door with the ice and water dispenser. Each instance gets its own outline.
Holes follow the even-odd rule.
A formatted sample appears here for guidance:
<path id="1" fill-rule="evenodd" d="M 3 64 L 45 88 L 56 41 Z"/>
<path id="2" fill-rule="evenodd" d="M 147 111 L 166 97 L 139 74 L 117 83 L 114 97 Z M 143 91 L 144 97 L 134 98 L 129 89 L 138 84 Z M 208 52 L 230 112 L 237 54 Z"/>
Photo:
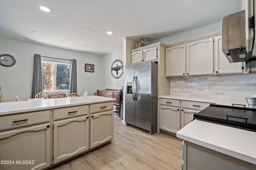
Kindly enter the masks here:
<path id="1" fill-rule="evenodd" d="M 125 66 L 125 122 L 135 125 L 134 76 L 135 64 Z"/>

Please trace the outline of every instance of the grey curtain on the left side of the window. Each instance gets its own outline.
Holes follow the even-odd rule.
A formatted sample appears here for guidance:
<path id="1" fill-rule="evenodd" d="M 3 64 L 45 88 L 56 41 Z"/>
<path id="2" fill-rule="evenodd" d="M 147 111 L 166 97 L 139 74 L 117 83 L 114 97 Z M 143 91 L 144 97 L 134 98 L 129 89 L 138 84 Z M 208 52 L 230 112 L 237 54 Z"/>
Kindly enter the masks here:
<path id="1" fill-rule="evenodd" d="M 41 55 L 35 54 L 31 98 L 34 98 L 37 93 L 42 91 L 43 91 L 43 76 L 42 76 Z"/>

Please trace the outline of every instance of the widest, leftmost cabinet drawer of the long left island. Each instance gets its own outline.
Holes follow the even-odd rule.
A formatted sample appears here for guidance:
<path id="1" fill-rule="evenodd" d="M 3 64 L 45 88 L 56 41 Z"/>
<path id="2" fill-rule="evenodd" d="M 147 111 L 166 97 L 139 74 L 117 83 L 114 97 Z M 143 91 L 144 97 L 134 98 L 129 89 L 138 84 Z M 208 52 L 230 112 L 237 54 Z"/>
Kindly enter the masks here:
<path id="1" fill-rule="evenodd" d="M 25 113 L 20 115 L 1 117 L 0 121 L 0 130 L 23 127 L 42 122 L 49 122 L 50 111 Z"/>

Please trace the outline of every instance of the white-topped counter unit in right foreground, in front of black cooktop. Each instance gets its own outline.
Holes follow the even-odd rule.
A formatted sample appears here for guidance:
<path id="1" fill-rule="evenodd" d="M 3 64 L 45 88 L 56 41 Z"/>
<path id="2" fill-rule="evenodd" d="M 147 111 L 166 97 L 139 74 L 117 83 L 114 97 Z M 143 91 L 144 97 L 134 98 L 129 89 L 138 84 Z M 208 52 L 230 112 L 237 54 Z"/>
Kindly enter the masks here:
<path id="1" fill-rule="evenodd" d="M 256 169 L 256 132 L 194 120 L 177 132 L 183 170 Z"/>

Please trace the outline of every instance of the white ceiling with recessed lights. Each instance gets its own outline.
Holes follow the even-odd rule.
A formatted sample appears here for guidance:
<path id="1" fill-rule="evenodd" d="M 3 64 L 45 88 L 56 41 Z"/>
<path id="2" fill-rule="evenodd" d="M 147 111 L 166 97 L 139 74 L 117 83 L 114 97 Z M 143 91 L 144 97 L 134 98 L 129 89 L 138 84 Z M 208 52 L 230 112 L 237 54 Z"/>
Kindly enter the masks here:
<path id="1" fill-rule="evenodd" d="M 158 40 L 238 11 L 240 0 L 0 0 L 0 36 L 104 55 L 124 37 Z"/>

